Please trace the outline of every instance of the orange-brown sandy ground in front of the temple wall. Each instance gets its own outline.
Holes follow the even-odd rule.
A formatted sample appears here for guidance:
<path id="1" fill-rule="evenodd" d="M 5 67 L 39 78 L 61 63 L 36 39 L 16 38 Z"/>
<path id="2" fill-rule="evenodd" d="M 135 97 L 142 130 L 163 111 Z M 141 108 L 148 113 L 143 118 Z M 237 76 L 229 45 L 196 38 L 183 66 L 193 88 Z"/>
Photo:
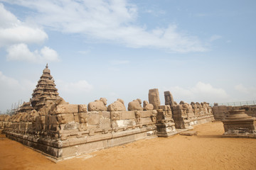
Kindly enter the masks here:
<path id="1" fill-rule="evenodd" d="M 0 169 L 256 169 L 256 139 L 222 138 L 221 122 L 194 130 L 197 136 L 139 140 L 57 164 L 1 135 Z"/>

